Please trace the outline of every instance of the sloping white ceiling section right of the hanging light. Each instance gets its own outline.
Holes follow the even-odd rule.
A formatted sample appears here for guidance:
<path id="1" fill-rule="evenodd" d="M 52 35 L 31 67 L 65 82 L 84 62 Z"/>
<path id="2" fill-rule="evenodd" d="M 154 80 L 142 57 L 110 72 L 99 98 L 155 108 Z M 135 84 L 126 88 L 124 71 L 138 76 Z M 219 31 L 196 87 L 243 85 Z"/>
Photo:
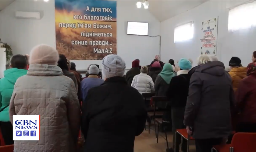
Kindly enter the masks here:
<path id="1" fill-rule="evenodd" d="M 206 1 L 208 0 L 148 0 L 148 9 L 160 22 L 162 22 L 193 9 Z"/>

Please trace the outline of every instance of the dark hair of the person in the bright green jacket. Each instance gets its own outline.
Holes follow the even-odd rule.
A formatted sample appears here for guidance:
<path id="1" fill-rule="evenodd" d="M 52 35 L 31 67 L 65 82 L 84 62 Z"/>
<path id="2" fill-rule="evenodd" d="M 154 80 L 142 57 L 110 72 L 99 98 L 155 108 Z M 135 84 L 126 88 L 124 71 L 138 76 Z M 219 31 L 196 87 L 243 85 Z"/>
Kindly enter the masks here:
<path id="1" fill-rule="evenodd" d="M 26 69 L 27 68 L 27 57 L 22 54 L 16 54 L 12 56 L 10 64 L 12 68 Z"/>

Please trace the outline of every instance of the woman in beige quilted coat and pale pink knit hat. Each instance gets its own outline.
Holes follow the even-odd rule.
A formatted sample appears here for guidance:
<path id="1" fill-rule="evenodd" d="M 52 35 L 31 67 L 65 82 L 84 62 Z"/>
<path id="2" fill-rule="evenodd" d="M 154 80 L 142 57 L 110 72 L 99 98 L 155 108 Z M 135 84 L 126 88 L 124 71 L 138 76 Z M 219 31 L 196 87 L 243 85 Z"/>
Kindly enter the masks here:
<path id="1" fill-rule="evenodd" d="M 75 152 L 80 106 L 73 80 L 57 66 L 59 54 L 47 45 L 30 52 L 27 75 L 14 86 L 9 115 L 40 115 L 39 141 L 14 141 L 14 152 Z"/>

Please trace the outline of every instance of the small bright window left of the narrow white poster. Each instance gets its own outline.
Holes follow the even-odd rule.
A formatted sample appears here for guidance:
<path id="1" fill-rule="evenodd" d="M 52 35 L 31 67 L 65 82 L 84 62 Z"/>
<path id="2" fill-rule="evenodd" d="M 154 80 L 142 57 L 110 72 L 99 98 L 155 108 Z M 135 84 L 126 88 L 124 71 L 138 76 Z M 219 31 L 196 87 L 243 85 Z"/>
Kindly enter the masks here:
<path id="1" fill-rule="evenodd" d="M 194 36 L 194 23 L 184 24 L 174 29 L 174 43 L 192 39 Z"/>

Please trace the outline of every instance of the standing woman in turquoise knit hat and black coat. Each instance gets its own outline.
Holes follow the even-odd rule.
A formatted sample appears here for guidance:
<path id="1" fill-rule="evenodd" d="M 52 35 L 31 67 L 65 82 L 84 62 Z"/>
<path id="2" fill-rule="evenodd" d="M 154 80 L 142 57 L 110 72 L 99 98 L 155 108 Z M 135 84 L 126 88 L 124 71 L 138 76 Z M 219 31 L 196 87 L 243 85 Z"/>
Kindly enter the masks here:
<path id="1" fill-rule="evenodd" d="M 170 105 L 168 105 L 167 107 L 171 107 L 173 132 L 172 148 L 174 152 L 180 151 L 181 143 L 181 136 L 179 136 L 179 134 L 176 135 L 175 141 L 175 132 L 177 129 L 186 128 L 186 126 L 184 126 L 183 124 L 183 119 L 190 81 L 190 76 L 188 75 L 188 72 L 191 69 L 192 64 L 189 60 L 182 58 L 179 61 L 179 67 L 180 69 L 177 72 L 177 76 L 172 78 L 169 89 L 166 92 L 166 97 L 171 101 Z M 175 150 L 174 147 L 176 147 Z M 187 151 L 187 140 L 182 141 L 181 150 Z"/>

